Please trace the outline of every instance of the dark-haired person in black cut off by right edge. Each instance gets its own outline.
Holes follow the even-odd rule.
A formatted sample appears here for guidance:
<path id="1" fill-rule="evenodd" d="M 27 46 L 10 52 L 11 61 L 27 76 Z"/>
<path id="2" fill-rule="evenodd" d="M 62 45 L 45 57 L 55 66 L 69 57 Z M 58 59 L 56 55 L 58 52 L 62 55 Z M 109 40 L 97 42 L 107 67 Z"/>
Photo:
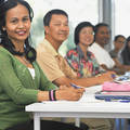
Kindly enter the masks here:
<path id="1" fill-rule="evenodd" d="M 125 48 L 121 52 L 121 58 L 123 65 L 130 65 L 130 36 L 126 40 Z"/>

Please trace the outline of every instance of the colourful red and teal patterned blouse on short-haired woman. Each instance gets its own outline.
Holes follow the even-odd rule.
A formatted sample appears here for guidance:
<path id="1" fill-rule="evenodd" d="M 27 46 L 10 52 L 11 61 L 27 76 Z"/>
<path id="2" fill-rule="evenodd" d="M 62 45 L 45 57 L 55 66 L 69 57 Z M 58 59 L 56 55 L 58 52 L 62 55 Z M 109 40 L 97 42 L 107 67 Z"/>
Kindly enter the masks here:
<path id="1" fill-rule="evenodd" d="M 86 60 L 79 46 L 69 50 L 65 56 L 69 66 L 77 72 L 79 78 L 95 76 L 100 73 L 100 65 L 98 64 L 94 54 L 87 51 L 87 57 L 88 58 Z"/>

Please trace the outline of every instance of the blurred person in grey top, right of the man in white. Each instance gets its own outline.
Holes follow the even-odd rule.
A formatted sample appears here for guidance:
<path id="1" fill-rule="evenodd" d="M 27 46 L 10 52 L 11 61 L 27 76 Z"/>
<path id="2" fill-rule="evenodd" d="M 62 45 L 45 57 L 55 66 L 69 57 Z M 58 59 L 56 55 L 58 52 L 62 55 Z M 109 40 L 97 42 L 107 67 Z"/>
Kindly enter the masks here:
<path id="1" fill-rule="evenodd" d="M 112 58 L 115 61 L 118 68 L 123 69 L 125 72 L 130 70 L 130 65 L 123 65 L 121 58 L 121 50 L 125 47 L 126 38 L 122 35 L 118 35 L 114 39 L 114 50 L 109 52 Z"/>

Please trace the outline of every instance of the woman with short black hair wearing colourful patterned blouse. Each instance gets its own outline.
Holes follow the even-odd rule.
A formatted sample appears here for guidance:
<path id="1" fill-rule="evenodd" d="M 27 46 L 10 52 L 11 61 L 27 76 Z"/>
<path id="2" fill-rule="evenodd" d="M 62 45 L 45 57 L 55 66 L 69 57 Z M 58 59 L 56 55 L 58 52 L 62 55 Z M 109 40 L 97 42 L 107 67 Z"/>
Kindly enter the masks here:
<path id="1" fill-rule="evenodd" d="M 69 66 L 77 72 L 78 77 L 92 77 L 101 73 L 93 53 L 88 47 L 94 41 L 94 26 L 89 22 L 78 24 L 75 29 L 76 48 L 70 49 L 66 54 Z"/>

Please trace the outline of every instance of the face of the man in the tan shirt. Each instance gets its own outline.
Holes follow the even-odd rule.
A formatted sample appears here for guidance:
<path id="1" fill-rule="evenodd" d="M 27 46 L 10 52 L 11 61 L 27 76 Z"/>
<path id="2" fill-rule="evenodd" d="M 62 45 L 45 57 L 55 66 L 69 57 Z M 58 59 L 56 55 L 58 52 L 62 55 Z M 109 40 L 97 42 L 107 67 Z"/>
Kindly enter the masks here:
<path id="1" fill-rule="evenodd" d="M 49 26 L 44 27 L 46 34 L 51 41 L 62 43 L 69 34 L 68 18 L 62 14 L 52 15 Z"/>

